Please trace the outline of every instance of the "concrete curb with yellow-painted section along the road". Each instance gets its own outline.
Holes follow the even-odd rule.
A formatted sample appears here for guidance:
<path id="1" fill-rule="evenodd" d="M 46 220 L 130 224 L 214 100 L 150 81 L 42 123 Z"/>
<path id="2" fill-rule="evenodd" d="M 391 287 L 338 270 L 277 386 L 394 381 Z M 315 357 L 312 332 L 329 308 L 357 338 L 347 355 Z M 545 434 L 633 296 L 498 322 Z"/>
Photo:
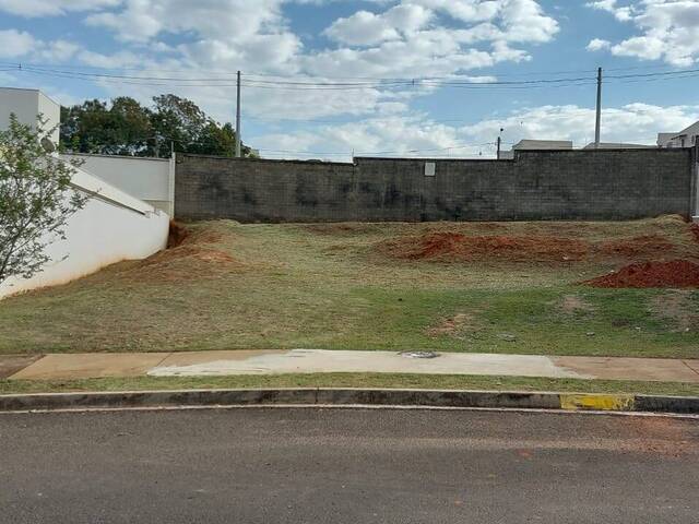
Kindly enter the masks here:
<path id="1" fill-rule="evenodd" d="M 362 389 L 183 390 L 0 395 L 0 412 L 237 405 L 365 405 L 699 414 L 699 397 Z"/>

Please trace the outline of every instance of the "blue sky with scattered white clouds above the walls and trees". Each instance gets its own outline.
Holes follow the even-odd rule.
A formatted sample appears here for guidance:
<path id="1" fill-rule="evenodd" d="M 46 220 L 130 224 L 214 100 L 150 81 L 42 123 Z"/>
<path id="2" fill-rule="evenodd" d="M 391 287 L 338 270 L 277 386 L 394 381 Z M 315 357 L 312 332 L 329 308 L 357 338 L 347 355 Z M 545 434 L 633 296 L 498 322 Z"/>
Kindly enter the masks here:
<path id="1" fill-rule="evenodd" d="M 654 144 L 699 120 L 699 0 L 0 0 L 0 86 L 175 93 L 270 158 Z M 502 130 L 502 131 L 500 131 Z"/>

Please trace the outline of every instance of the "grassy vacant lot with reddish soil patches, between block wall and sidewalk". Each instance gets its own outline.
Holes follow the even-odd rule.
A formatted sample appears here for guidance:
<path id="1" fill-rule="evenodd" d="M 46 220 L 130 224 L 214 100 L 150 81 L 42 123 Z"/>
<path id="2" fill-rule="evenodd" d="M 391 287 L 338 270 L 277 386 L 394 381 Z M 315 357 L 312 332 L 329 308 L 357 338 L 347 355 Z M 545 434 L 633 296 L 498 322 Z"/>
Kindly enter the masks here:
<path id="1" fill-rule="evenodd" d="M 417 349 L 699 358 L 698 289 L 580 284 L 699 262 L 679 217 L 187 226 L 177 248 L 0 301 L 0 353 Z"/>

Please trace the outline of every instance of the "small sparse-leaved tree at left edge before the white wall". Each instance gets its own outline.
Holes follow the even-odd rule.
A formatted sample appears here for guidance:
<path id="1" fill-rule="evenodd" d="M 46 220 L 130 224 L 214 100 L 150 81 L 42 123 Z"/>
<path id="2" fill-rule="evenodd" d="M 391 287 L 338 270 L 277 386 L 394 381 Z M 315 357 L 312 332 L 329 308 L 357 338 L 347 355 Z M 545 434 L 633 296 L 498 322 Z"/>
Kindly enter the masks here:
<path id="1" fill-rule="evenodd" d="M 42 271 L 50 260 L 45 248 L 66 238 L 68 218 L 87 201 L 71 187 L 78 165 L 43 145 L 52 131 L 43 126 L 34 130 L 11 115 L 0 131 L 0 283 Z"/>

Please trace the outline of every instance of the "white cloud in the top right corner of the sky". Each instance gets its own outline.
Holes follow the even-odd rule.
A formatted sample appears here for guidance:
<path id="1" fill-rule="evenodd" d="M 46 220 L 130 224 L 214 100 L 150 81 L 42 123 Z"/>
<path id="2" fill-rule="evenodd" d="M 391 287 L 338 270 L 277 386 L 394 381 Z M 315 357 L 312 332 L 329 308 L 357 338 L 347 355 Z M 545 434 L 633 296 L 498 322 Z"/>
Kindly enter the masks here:
<path id="1" fill-rule="evenodd" d="M 632 23 L 640 35 L 609 47 L 613 55 L 663 60 L 678 67 L 699 61 L 699 2 L 696 0 L 601 0 L 589 3 Z"/>

